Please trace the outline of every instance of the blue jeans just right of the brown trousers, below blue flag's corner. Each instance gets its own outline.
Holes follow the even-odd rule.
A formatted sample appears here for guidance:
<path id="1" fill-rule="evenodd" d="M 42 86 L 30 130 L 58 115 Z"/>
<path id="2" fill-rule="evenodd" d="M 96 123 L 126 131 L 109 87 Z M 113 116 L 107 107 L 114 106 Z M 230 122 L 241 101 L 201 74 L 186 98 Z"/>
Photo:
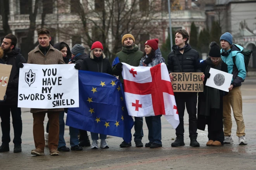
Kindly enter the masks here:
<path id="1" fill-rule="evenodd" d="M 61 148 L 62 146 L 66 146 L 66 142 L 64 139 L 64 131 L 65 131 L 65 122 L 64 122 L 64 111 L 60 112 L 59 114 L 59 124 L 60 124 L 60 133 L 59 133 L 59 144 L 58 148 Z M 69 127 L 69 133 L 70 133 L 70 146 L 78 145 L 78 133 L 79 129 Z"/>

